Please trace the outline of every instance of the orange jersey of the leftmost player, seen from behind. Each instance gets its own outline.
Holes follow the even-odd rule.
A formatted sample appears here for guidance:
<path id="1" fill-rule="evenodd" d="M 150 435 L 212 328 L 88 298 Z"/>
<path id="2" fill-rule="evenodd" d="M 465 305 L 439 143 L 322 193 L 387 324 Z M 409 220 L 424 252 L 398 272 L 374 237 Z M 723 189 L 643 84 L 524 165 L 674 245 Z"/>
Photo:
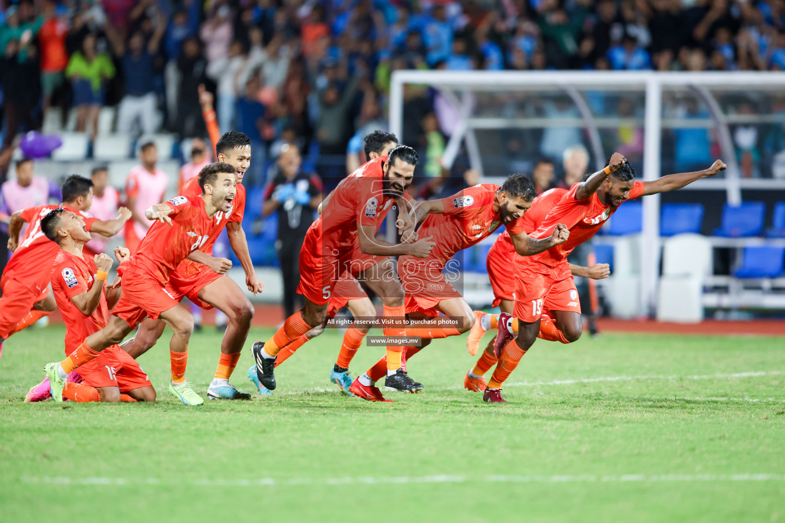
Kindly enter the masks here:
<path id="1" fill-rule="evenodd" d="M 62 207 L 82 216 L 88 231 L 93 223 L 98 221 L 87 212 L 71 209 L 68 205 L 62 205 Z M 22 219 L 30 223 L 30 227 L 27 227 L 27 232 L 19 247 L 5 266 L 4 278 L 23 280 L 31 287 L 40 287 L 38 290 L 49 285 L 52 263 L 54 263 L 57 253 L 60 252 L 60 246 L 46 238 L 41 230 L 41 220 L 54 209 L 60 209 L 60 205 L 38 205 L 22 210 Z"/>

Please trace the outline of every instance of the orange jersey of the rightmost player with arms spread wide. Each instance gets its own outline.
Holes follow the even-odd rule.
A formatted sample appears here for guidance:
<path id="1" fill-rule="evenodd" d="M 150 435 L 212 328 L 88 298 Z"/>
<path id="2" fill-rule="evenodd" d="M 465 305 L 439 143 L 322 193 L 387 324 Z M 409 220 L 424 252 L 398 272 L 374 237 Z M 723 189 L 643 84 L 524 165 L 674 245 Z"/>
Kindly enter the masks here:
<path id="1" fill-rule="evenodd" d="M 531 234 L 532 238 L 548 238 L 553 234 L 553 229 L 558 223 L 564 223 L 570 230 L 570 238 L 567 242 L 551 247 L 546 252 L 529 256 L 531 260 L 545 263 L 550 267 L 556 267 L 560 262 L 567 259 L 572 249 L 586 242 L 586 240 L 597 233 L 605 223 L 605 220 L 608 220 L 615 212 L 615 207 L 601 204 L 597 193 L 584 200 L 576 200 L 575 191 L 579 185 L 580 183 L 575 183 L 575 185 L 570 187 L 570 190 L 551 209 L 548 216 L 542 220 L 537 231 Z M 630 200 L 641 196 L 644 186 L 644 182 L 635 182 L 630 190 Z"/>

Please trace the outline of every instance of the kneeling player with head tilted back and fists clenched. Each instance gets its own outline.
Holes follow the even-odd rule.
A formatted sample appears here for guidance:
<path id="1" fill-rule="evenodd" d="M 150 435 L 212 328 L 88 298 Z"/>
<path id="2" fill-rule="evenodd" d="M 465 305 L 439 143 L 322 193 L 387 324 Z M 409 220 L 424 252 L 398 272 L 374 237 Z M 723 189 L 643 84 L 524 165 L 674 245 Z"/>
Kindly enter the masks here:
<path id="1" fill-rule="evenodd" d="M 83 256 L 82 248 L 89 242 L 90 233 L 82 216 L 63 208 L 49 211 L 41 220 L 41 230 L 46 238 L 60 245 L 52 271 L 52 290 L 65 322 L 65 354 L 68 355 L 87 336 L 107 325 L 109 309 L 120 297 L 120 281 L 116 278 L 112 285 L 104 285 L 111 269 L 109 256 L 104 253 Z M 119 263 L 129 255 L 130 251 L 124 247 L 115 249 Z M 79 402 L 155 401 L 155 389 L 139 364 L 125 350 L 111 345 L 82 365 L 79 372 L 71 372 L 62 396 Z M 47 378 L 31 388 L 25 401 L 50 397 Z"/>

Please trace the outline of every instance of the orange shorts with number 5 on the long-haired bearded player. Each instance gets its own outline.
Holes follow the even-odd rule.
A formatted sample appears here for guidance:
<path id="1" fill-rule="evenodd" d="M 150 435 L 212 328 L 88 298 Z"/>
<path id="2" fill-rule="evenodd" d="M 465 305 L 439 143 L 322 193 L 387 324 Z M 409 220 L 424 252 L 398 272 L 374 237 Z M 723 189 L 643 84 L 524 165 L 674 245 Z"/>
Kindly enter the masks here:
<path id="1" fill-rule="evenodd" d="M 313 238 L 306 234 L 300 251 L 300 285 L 297 292 L 316 305 L 323 305 L 332 299 L 334 286 L 344 273 L 353 277 L 387 259 L 387 256 L 360 252 L 360 245 L 355 245 L 343 256 L 314 256 L 313 252 L 317 252 L 317 249 Z"/>

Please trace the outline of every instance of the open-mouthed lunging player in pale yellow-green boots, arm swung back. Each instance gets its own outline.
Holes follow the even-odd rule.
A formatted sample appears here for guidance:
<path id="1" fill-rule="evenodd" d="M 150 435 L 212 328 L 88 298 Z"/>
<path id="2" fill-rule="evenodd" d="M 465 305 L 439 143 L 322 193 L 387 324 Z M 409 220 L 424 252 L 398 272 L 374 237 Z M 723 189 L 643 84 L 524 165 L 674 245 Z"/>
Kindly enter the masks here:
<path id="1" fill-rule="evenodd" d="M 185 381 L 193 317 L 166 286 L 177 265 L 210 238 L 217 213 L 226 214 L 232 209 L 237 191 L 235 168 L 223 162 L 206 165 L 199 172 L 199 185 L 203 194 L 197 198 L 177 196 L 145 211 L 145 216 L 156 223 L 142 239 L 137 252 L 118 268 L 122 296 L 111 311 L 108 325 L 87 336 L 68 358 L 46 365 L 55 401 L 62 401 L 68 372 L 93 360 L 101 350 L 121 342 L 141 320 L 149 317 L 162 318 L 173 331 L 170 392 L 185 405 L 204 403 L 191 383 Z"/>

